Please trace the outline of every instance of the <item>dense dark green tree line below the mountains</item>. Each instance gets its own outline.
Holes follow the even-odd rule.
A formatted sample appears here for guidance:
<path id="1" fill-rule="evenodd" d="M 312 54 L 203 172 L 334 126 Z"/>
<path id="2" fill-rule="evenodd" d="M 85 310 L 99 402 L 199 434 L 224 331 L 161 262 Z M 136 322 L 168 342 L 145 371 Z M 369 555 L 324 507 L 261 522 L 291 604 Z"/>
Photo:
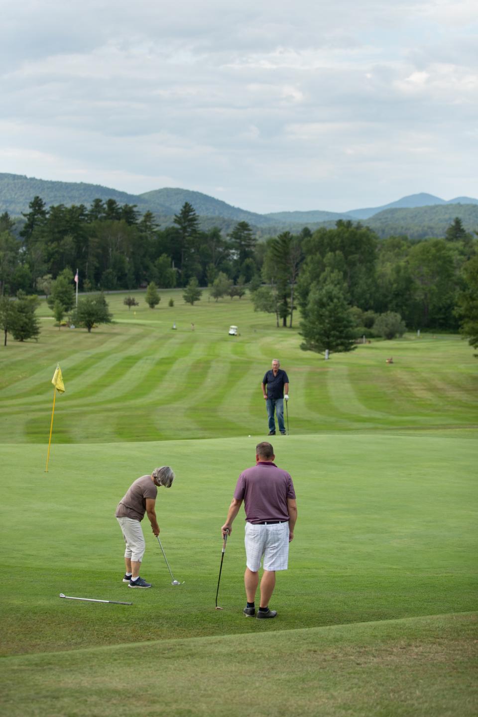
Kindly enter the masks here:
<path id="1" fill-rule="evenodd" d="M 217 300 L 241 298 L 248 288 L 254 308 L 272 313 L 277 326 L 294 326 L 300 310 L 304 348 L 312 350 L 322 346 L 316 329 L 327 313 L 331 331 L 343 324 L 339 333 L 348 341 L 360 332 L 373 336 L 374 326 L 382 335 L 391 326 L 396 333 L 404 326 L 478 333 L 477 232 L 467 232 L 459 218 L 441 238 L 380 239 L 360 222 L 340 219 L 333 228 L 304 227 L 258 242 L 247 222 L 226 235 L 218 227 L 202 231 L 188 202 L 172 227 L 161 228 L 151 212 L 140 217 L 134 205 L 114 199 L 47 209 L 37 196 L 19 236 L 13 227 L 1 214 L 0 294 L 20 291 L 24 300 L 44 293 L 52 309 L 57 303 L 66 310 L 62 291 L 78 270 L 86 292 L 209 285 Z"/>

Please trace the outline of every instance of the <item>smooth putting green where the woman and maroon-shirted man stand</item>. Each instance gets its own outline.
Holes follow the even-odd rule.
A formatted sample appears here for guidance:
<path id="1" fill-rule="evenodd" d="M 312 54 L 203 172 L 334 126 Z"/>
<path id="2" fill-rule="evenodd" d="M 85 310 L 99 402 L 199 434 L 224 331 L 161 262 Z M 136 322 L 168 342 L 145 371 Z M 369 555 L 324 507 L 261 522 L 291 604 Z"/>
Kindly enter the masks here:
<path id="1" fill-rule="evenodd" d="M 258 438 L 61 445 L 48 474 L 44 447 L 4 445 L 2 544 L 15 546 L 2 586 L 6 653 L 256 630 L 241 612 L 244 516 L 228 541 L 224 613 L 214 610 L 214 596 L 219 529 Z M 279 436 L 275 444 L 295 479 L 300 518 L 274 601 L 281 618 L 269 630 L 476 607 L 473 441 L 322 435 Z M 158 494 L 162 542 L 173 574 L 186 582 L 171 587 L 147 532 L 142 571 L 154 589 L 133 591 L 121 582 L 115 505 L 134 478 L 165 462 L 177 478 Z M 105 612 L 60 600 L 60 592 L 135 605 Z"/>

